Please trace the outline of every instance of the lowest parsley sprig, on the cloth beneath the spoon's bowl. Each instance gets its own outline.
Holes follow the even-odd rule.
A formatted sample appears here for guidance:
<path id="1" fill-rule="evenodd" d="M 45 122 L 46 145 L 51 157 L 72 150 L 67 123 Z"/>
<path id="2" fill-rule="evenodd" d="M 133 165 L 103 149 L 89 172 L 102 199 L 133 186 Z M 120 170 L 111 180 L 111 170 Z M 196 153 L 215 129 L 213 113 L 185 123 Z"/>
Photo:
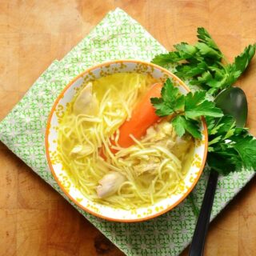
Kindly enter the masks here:
<path id="1" fill-rule="evenodd" d="M 235 126 L 234 118 L 223 116 L 216 122 L 206 118 L 209 147 L 207 163 L 221 174 L 232 171 L 256 170 L 256 139 L 247 128 Z"/>

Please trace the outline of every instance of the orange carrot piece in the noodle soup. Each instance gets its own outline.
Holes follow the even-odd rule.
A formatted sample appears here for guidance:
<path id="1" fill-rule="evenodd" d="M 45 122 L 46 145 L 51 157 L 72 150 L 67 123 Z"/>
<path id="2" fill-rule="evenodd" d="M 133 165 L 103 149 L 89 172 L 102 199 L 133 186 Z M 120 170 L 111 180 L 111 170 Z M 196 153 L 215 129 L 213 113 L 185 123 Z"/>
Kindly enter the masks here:
<path id="1" fill-rule="evenodd" d="M 150 102 L 150 98 L 160 97 L 162 90 L 161 83 L 155 83 L 150 90 L 143 96 L 142 100 L 135 106 L 130 120 L 126 120 L 119 127 L 118 145 L 124 148 L 132 146 L 134 140 L 130 138 L 130 134 L 134 138 L 140 139 L 146 134 L 146 130 L 159 120 L 157 114 L 155 114 L 154 106 Z M 112 142 L 114 145 L 114 142 Z M 117 150 L 111 149 L 113 153 Z"/>

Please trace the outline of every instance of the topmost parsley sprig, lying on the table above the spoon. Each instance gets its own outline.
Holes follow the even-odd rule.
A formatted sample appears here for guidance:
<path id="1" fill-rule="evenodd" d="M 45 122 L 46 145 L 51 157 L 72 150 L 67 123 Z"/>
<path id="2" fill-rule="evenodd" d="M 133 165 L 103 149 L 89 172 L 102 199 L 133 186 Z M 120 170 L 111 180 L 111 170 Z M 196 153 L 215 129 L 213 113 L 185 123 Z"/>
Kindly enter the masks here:
<path id="1" fill-rule="evenodd" d="M 168 54 L 155 56 L 152 62 L 159 66 L 174 64 L 174 74 L 179 78 L 190 80 L 191 85 L 216 96 L 220 90 L 233 85 L 246 70 L 254 57 L 256 44 L 247 46 L 242 54 L 234 58 L 233 63 L 227 63 L 214 39 L 201 27 L 198 28 L 196 44 L 181 42 L 174 48 Z"/>

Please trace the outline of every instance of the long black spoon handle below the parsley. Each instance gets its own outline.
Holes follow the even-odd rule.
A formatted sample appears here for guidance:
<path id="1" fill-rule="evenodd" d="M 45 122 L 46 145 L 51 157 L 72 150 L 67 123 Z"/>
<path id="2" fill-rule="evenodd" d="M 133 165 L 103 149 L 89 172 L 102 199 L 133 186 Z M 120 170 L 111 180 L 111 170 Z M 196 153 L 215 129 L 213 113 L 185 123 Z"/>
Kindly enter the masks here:
<path id="1" fill-rule="evenodd" d="M 202 256 L 206 242 L 206 234 L 210 222 L 210 212 L 214 202 L 214 194 L 218 182 L 218 173 L 210 170 L 206 193 L 204 195 L 201 210 L 198 217 L 197 226 L 194 230 L 193 239 L 190 246 L 189 256 Z"/>

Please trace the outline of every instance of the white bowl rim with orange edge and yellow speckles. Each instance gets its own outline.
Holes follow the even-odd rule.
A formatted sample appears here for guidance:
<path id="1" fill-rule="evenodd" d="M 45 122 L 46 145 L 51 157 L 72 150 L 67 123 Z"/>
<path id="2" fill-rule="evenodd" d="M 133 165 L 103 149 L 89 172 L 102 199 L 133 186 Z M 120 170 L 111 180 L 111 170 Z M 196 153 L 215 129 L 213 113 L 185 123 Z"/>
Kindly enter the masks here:
<path id="1" fill-rule="evenodd" d="M 202 174 L 203 167 L 206 162 L 207 154 L 207 129 L 206 122 L 202 118 L 200 130 L 202 139 L 195 141 L 193 161 L 186 174 L 186 178 L 178 185 L 177 193 L 172 194 L 168 198 L 164 198 L 152 206 L 140 207 L 135 210 L 116 209 L 111 206 L 105 206 L 98 202 L 92 202 L 87 199 L 82 192 L 75 186 L 74 182 L 67 174 L 65 168 L 62 166 L 56 156 L 57 138 L 58 138 L 58 124 L 62 118 L 66 106 L 74 98 L 74 94 L 82 86 L 83 82 L 93 81 L 94 79 L 104 77 L 109 74 L 135 72 L 139 74 L 150 74 L 154 78 L 164 82 L 166 78 L 171 78 L 174 85 L 182 94 L 186 94 L 189 88 L 177 76 L 170 73 L 170 71 L 161 66 L 154 65 L 149 62 L 142 62 L 138 60 L 117 60 L 113 62 L 105 62 L 97 66 L 93 66 L 85 70 L 74 78 L 58 96 L 50 111 L 46 126 L 46 157 L 50 170 L 58 182 L 58 186 L 66 194 L 74 204 L 86 210 L 90 214 L 94 214 L 99 218 L 104 218 L 116 222 L 140 222 L 150 218 L 157 217 L 167 211 L 173 209 L 180 202 L 182 202 L 190 191 L 193 190 L 198 178 Z"/>

